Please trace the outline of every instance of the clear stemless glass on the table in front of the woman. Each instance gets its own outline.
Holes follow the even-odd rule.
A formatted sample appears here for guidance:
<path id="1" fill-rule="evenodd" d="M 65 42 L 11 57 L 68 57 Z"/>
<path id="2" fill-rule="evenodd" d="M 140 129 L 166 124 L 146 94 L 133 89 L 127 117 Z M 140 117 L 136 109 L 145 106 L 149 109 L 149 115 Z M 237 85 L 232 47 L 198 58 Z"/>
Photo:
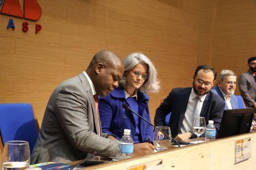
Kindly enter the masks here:
<path id="1" fill-rule="evenodd" d="M 154 131 L 154 146 L 156 151 L 165 151 L 171 146 L 170 127 L 156 127 Z"/>

